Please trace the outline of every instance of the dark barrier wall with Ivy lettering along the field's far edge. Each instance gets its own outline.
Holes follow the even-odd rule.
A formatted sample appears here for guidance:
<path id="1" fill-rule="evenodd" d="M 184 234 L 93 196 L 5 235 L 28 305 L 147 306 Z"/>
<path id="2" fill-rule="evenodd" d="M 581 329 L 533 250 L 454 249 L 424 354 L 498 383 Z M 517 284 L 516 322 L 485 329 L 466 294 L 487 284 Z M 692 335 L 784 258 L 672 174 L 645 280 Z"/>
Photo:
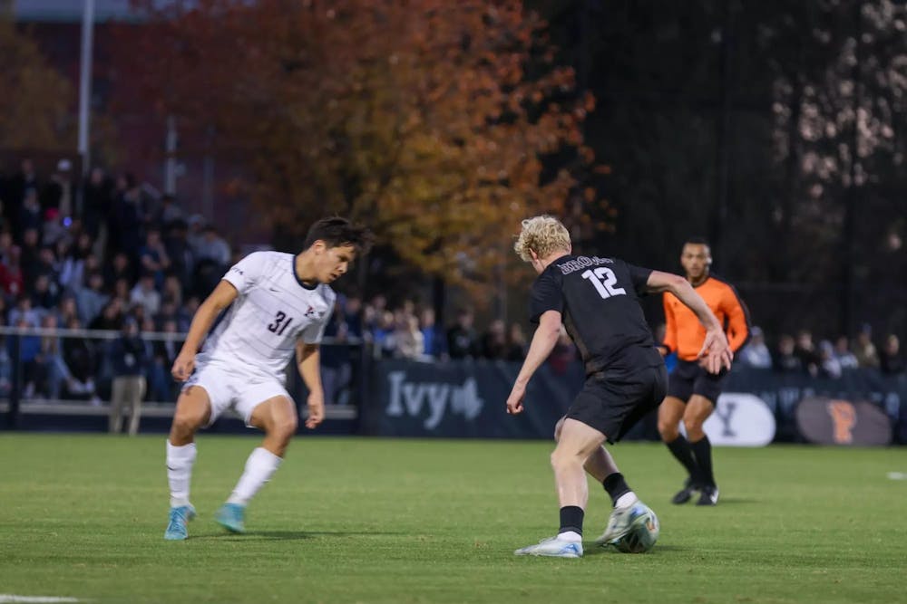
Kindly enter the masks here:
<path id="1" fill-rule="evenodd" d="M 519 369 L 518 364 L 489 361 L 376 361 L 361 409 L 361 430 L 379 436 L 551 438 L 554 424 L 581 387 L 582 368 L 577 363 L 557 373 L 542 366 L 528 388 L 526 410 L 511 417 L 504 402 Z M 725 432 L 735 429 L 735 414 L 745 409 L 742 402 L 753 400 L 730 395 L 746 393 L 760 399 L 775 418 L 775 442 L 907 443 L 903 376 L 853 370 L 841 379 L 815 379 L 736 368 L 724 390 L 728 396 L 719 402 L 716 422 Z M 845 432 L 850 440 L 842 436 Z M 657 438 L 655 418 L 648 417 L 628 437 Z"/>

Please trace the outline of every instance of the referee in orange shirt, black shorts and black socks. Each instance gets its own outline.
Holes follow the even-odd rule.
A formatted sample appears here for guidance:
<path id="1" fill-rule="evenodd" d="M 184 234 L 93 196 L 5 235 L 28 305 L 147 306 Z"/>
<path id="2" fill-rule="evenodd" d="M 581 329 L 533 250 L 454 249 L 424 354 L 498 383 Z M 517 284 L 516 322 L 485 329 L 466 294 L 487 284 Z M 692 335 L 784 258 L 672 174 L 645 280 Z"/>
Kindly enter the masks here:
<path id="1" fill-rule="evenodd" d="M 708 308 L 725 326 L 727 340 L 736 354 L 749 338 L 749 314 L 736 291 L 729 284 L 709 275 L 712 255 L 704 239 L 690 238 L 683 246 L 680 264 L 688 282 L 706 301 Z M 697 505 L 718 503 L 718 487 L 712 473 L 712 446 L 702 430 L 712 415 L 727 369 L 709 373 L 697 354 L 702 349 L 706 331 L 702 324 L 672 293 L 664 294 L 666 332 L 661 353 L 678 353 L 678 365 L 668 377 L 668 396 L 658 407 L 658 433 L 688 472 L 688 478 L 671 503 L 687 503 L 699 492 Z M 687 438 L 679 432 L 680 421 Z"/>

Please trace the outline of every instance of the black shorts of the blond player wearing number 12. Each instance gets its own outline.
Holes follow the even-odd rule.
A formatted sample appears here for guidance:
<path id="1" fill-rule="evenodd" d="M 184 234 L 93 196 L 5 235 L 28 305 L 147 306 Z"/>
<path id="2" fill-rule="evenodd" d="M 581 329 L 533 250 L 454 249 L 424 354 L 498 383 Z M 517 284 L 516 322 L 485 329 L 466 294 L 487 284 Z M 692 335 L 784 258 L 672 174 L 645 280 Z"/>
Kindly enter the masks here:
<path id="1" fill-rule="evenodd" d="M 586 379 L 566 417 L 594 427 L 609 443 L 615 443 L 642 417 L 658 408 L 667 387 L 668 371 L 664 365 L 640 369 L 629 376 L 593 374 Z"/>

